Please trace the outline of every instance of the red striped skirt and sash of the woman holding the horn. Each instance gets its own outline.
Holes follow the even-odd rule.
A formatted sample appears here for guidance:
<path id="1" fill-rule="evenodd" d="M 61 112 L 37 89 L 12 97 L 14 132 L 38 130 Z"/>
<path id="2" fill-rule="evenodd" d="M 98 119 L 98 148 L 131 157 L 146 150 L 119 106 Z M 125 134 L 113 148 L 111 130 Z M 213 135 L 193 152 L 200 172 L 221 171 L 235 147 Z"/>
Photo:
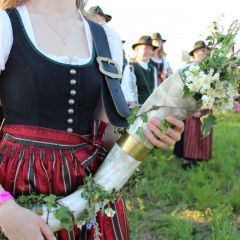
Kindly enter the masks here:
<path id="1" fill-rule="evenodd" d="M 102 141 L 106 123 L 93 121 L 92 135 L 80 136 L 64 131 L 8 125 L 0 145 L 0 184 L 16 198 L 29 191 L 36 194 L 67 196 L 94 174 L 107 150 Z M 101 240 L 126 240 L 129 223 L 123 201 L 112 204 L 113 218 L 97 214 Z M 94 229 L 75 227 L 61 230 L 60 240 L 94 240 Z"/>

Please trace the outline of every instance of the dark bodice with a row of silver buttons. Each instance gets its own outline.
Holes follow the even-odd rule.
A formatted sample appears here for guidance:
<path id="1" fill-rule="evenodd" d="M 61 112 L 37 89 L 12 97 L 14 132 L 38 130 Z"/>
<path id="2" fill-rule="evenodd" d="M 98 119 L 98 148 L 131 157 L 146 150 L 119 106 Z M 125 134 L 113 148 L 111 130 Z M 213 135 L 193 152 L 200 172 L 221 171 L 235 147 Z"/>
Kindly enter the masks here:
<path id="1" fill-rule="evenodd" d="M 91 62 L 83 66 L 55 62 L 33 46 L 17 10 L 8 14 L 14 41 L 0 76 L 6 125 L 91 133 L 91 120 L 101 92 L 95 50 Z"/>

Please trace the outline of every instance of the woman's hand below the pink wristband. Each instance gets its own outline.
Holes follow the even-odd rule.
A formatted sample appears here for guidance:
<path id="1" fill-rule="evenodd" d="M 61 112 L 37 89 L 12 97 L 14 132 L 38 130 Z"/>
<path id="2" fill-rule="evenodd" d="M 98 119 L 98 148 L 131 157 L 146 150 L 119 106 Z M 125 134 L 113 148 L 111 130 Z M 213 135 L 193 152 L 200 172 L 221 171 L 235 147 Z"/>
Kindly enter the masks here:
<path id="1" fill-rule="evenodd" d="M 0 205 L 0 226 L 9 240 L 56 240 L 37 214 L 8 200 Z M 44 237 L 43 237 L 44 236 Z"/>

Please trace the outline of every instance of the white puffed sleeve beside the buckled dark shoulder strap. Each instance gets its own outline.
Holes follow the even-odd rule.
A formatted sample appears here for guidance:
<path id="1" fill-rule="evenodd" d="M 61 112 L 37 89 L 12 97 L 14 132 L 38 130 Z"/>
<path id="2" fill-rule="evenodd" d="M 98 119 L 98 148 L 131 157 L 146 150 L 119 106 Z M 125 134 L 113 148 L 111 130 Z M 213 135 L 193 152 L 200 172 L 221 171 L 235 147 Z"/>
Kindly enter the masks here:
<path id="1" fill-rule="evenodd" d="M 118 33 L 110 26 L 103 25 L 103 29 L 107 35 L 108 44 L 110 48 L 110 52 L 112 55 L 112 59 L 117 62 L 120 67 L 120 71 L 122 72 L 123 68 L 123 48 L 122 41 Z"/>

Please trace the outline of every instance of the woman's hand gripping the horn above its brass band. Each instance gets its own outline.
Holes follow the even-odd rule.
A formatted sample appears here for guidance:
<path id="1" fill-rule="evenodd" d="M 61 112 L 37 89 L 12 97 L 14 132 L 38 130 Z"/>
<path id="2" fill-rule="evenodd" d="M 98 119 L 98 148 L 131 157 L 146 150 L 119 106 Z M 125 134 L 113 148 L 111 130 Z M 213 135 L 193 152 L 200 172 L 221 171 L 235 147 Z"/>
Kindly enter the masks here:
<path id="1" fill-rule="evenodd" d="M 184 130 L 184 123 L 174 117 L 167 117 L 166 120 L 173 125 L 172 128 L 168 128 L 167 133 L 163 136 L 161 130 L 162 121 L 156 117 L 153 117 L 150 122 L 147 123 L 149 130 L 146 131 L 146 135 L 150 142 L 157 148 L 167 148 L 174 145 L 181 139 L 181 134 Z"/>

